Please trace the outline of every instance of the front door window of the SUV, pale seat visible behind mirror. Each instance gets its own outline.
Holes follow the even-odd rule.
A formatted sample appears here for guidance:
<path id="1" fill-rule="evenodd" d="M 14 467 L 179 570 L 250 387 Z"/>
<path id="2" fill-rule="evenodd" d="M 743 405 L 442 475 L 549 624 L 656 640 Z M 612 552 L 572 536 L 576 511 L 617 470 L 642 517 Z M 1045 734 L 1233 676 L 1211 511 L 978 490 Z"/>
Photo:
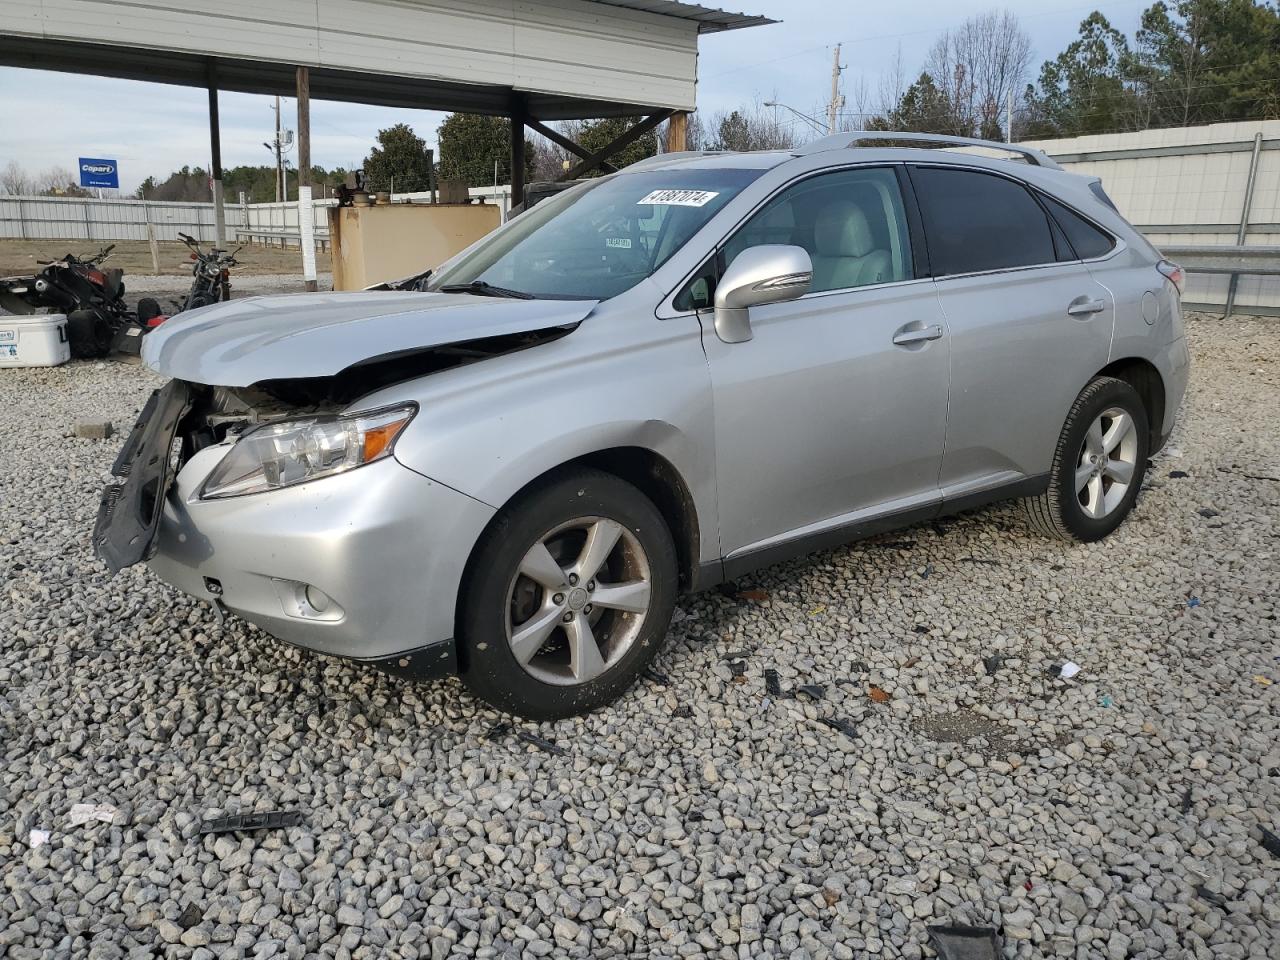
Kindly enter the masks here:
<path id="1" fill-rule="evenodd" d="M 708 307 L 714 284 L 749 247 L 804 247 L 813 261 L 812 293 L 910 280 L 911 241 L 902 193 L 891 168 L 854 168 L 785 188 L 742 224 L 677 294 L 677 310 Z"/>

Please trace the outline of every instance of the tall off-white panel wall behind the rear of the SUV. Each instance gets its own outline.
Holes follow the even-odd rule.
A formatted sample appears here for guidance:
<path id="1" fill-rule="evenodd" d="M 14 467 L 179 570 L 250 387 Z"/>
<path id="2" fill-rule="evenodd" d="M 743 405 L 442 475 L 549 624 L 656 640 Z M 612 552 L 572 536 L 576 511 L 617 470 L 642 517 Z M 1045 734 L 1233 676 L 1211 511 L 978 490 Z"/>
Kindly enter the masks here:
<path id="1" fill-rule="evenodd" d="M 1157 247 L 1234 244 L 1244 211 L 1253 138 L 1263 150 L 1249 209 L 1248 246 L 1280 244 L 1280 120 L 1215 123 L 1140 133 L 1032 141 L 1073 173 L 1101 177 L 1120 212 Z M 1221 306 L 1226 276 L 1192 276 L 1189 303 Z M 1280 311 L 1280 278 L 1240 276 L 1236 310 Z"/>

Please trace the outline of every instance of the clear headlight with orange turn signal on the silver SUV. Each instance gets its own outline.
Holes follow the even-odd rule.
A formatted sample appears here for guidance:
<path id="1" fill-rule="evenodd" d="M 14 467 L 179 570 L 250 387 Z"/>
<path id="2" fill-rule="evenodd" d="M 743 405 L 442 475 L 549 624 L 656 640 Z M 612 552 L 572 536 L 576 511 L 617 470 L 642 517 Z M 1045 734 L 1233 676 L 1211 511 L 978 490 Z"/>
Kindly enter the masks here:
<path id="1" fill-rule="evenodd" d="M 201 499 L 241 497 L 319 480 L 389 457 L 417 406 L 344 417 L 285 420 L 241 436 L 200 490 Z"/>

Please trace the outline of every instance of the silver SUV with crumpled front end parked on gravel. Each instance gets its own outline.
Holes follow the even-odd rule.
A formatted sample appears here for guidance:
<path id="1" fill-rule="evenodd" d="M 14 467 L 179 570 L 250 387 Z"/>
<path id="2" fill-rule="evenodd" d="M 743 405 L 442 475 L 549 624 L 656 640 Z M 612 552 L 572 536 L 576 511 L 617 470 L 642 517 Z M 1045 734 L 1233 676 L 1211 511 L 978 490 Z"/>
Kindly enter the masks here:
<path id="1" fill-rule="evenodd" d="M 1106 536 L 1187 385 L 1180 271 L 1042 154 L 852 136 L 635 164 L 410 289 L 170 320 L 99 556 L 552 718 L 682 590 L 1005 498 Z"/>

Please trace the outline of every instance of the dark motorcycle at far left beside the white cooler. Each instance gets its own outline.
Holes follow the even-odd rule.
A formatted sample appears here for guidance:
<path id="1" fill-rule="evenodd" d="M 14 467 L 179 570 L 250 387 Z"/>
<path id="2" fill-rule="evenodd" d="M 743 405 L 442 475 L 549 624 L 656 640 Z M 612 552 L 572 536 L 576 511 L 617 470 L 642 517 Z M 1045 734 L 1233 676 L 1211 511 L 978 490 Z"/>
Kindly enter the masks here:
<path id="1" fill-rule="evenodd" d="M 45 268 L 33 276 L 0 279 L 0 307 L 14 314 L 35 314 L 51 308 L 67 315 L 67 340 L 73 357 L 106 356 L 113 347 L 132 346 L 129 329 L 136 315 L 124 302 L 124 271 L 102 269 L 111 256 L 113 243 L 95 256 L 68 253 L 60 260 L 37 260 Z"/>

